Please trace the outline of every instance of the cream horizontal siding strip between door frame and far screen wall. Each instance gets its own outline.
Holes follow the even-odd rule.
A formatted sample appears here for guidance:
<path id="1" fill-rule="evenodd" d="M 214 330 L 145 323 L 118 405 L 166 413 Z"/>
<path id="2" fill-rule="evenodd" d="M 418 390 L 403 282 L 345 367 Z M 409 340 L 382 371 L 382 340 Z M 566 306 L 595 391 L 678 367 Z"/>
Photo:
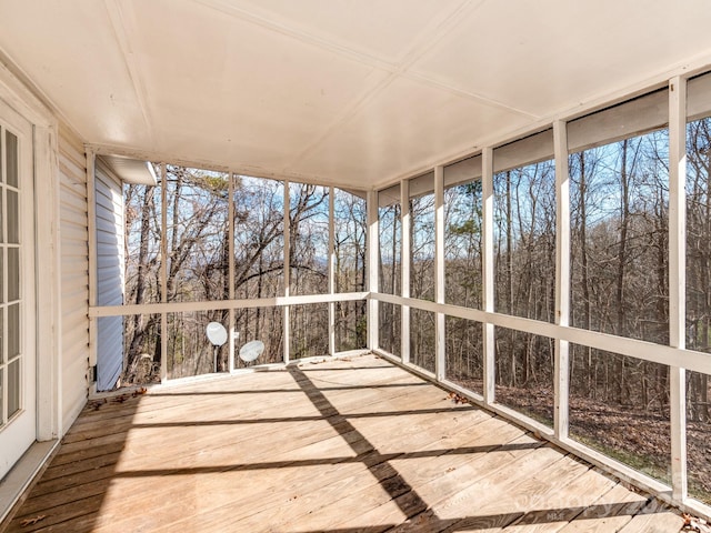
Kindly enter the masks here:
<path id="1" fill-rule="evenodd" d="M 64 433 L 87 402 L 89 384 L 89 230 L 87 223 L 87 173 L 83 145 L 60 128 L 60 234 L 62 383 L 61 409 Z"/>

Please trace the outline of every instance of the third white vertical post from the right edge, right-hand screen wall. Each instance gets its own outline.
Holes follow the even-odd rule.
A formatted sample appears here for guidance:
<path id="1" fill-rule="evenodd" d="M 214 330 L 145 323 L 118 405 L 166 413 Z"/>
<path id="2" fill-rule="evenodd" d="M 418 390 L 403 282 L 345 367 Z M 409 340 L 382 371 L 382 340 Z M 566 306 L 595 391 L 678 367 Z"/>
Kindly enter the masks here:
<path id="1" fill-rule="evenodd" d="M 493 150 L 481 151 L 482 230 L 483 230 L 483 310 L 493 312 Z M 493 324 L 483 324 L 484 403 L 495 400 L 495 353 Z"/>

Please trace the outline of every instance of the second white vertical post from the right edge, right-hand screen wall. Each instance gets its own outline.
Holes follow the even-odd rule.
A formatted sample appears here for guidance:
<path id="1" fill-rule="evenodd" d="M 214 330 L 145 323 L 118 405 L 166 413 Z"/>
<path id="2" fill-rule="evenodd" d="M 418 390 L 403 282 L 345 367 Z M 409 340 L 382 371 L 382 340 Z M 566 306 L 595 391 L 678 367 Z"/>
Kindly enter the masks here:
<path id="1" fill-rule="evenodd" d="M 555 323 L 570 323 L 570 172 L 568 130 L 563 121 L 553 122 L 555 154 Z M 555 339 L 553 370 L 553 431 L 558 440 L 568 439 L 570 394 L 570 343 Z"/>

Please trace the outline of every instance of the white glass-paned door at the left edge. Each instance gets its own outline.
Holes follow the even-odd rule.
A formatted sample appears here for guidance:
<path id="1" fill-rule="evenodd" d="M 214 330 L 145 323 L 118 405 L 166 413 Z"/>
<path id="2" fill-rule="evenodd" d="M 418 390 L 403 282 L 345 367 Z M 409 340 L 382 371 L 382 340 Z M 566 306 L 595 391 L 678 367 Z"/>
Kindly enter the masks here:
<path id="1" fill-rule="evenodd" d="M 0 101 L 0 479 L 37 435 L 32 127 Z"/>

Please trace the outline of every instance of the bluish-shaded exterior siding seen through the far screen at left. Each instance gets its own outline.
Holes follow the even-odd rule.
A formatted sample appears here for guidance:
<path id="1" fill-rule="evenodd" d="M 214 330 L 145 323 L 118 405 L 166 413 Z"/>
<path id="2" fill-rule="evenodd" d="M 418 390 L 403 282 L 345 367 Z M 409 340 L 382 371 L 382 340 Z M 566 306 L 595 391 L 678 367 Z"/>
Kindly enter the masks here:
<path id="1" fill-rule="evenodd" d="M 97 304 L 123 303 L 123 194 L 120 180 L 98 159 L 94 171 Z M 97 390 L 113 389 L 123 364 L 123 318 L 97 321 Z"/>

